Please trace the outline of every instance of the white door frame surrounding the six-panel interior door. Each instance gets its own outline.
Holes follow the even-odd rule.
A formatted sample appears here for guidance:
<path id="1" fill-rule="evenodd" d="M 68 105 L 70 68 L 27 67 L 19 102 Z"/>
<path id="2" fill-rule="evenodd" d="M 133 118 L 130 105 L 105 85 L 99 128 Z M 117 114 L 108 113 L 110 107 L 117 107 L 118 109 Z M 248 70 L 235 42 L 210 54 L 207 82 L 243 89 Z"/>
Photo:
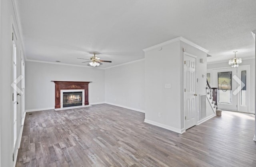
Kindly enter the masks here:
<path id="1" fill-rule="evenodd" d="M 187 53 L 187 52 L 183 52 L 183 106 L 186 106 L 185 105 L 185 103 L 186 103 L 186 99 L 185 99 L 185 80 L 186 80 L 186 78 L 185 78 L 185 63 L 184 63 L 184 61 L 185 61 L 185 56 L 190 56 L 190 57 L 192 57 L 192 58 L 197 58 L 197 56 L 194 56 L 194 55 L 192 55 L 192 54 L 189 54 L 189 53 Z M 196 66 L 196 61 L 195 61 L 195 66 Z M 197 68 L 197 66 L 196 66 L 196 68 Z M 195 69 L 196 69 L 195 68 Z M 195 76 L 196 76 L 196 70 L 195 70 Z M 194 80 L 194 86 L 195 86 L 195 93 L 197 92 L 196 91 L 196 84 L 197 84 L 197 82 L 196 82 L 196 78 L 195 78 L 195 80 Z M 195 97 L 195 124 L 194 125 L 197 125 L 197 120 L 198 120 L 198 115 L 196 114 L 196 97 Z M 185 108 L 183 108 L 183 115 L 184 115 L 184 117 L 183 117 L 183 119 L 184 119 L 184 129 L 185 129 L 185 131 L 186 131 L 186 120 L 185 120 Z M 187 128 L 188 129 L 188 128 Z"/>

